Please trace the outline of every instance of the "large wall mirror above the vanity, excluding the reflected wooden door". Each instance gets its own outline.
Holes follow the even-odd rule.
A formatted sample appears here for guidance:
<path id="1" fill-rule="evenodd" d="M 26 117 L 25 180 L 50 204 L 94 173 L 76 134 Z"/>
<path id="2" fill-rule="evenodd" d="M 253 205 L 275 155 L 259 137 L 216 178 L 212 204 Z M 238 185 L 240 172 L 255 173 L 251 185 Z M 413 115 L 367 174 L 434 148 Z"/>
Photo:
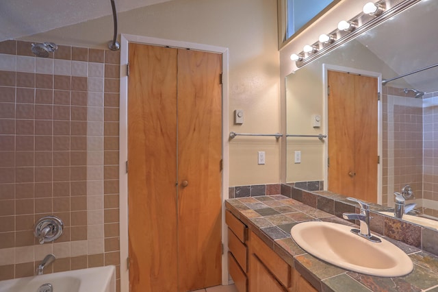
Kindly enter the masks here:
<path id="1" fill-rule="evenodd" d="M 288 75 L 287 134 L 328 134 L 327 70 L 389 80 L 438 64 L 437 13 L 438 1 L 420 1 Z M 415 202 L 422 217 L 438 219 L 438 66 L 378 88 L 378 202 L 394 206 L 394 192 L 410 184 L 414 197 L 407 203 Z M 415 98 L 415 91 L 404 88 L 425 94 Z M 324 181 L 331 191 L 326 181 L 329 139 L 287 138 L 287 182 Z"/>

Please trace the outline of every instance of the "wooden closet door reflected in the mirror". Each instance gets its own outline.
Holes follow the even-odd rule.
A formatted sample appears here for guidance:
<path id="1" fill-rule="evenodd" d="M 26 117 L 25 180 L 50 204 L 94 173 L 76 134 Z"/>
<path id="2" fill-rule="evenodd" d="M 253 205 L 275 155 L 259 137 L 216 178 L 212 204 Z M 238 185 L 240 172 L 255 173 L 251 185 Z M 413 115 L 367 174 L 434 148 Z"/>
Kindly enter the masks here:
<path id="1" fill-rule="evenodd" d="M 328 190 L 377 202 L 378 80 L 329 71 Z"/>

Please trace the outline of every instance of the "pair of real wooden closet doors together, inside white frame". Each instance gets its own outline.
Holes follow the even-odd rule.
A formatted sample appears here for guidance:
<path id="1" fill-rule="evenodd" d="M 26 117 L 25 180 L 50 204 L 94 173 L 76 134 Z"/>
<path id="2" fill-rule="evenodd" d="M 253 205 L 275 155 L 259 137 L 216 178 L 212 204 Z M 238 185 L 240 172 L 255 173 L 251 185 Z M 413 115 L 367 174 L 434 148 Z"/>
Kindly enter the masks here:
<path id="1" fill-rule="evenodd" d="M 129 44 L 131 291 L 221 282 L 222 56 Z"/>

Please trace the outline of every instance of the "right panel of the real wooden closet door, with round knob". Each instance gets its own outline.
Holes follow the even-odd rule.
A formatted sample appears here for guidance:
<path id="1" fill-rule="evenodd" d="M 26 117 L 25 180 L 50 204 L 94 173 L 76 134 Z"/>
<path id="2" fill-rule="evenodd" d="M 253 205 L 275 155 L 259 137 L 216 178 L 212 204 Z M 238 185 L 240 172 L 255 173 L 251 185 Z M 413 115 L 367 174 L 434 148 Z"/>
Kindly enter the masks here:
<path id="1" fill-rule="evenodd" d="M 220 73 L 220 54 L 178 50 L 179 291 L 221 283 Z"/>

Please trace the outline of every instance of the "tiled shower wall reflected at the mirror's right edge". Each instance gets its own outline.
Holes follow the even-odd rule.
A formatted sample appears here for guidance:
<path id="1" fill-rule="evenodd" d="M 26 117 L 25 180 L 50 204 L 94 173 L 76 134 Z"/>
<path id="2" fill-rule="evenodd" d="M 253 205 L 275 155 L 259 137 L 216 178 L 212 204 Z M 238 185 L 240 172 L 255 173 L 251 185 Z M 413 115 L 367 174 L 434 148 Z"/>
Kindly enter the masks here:
<path id="1" fill-rule="evenodd" d="M 415 199 L 425 199 L 424 213 L 437 216 L 438 169 L 434 165 L 438 127 L 433 124 L 438 122 L 438 93 L 415 99 L 413 93 L 405 94 L 403 89 L 384 86 L 383 202 L 391 204 L 392 194 L 410 184 Z M 428 206 L 430 203 L 436 206 Z"/>

